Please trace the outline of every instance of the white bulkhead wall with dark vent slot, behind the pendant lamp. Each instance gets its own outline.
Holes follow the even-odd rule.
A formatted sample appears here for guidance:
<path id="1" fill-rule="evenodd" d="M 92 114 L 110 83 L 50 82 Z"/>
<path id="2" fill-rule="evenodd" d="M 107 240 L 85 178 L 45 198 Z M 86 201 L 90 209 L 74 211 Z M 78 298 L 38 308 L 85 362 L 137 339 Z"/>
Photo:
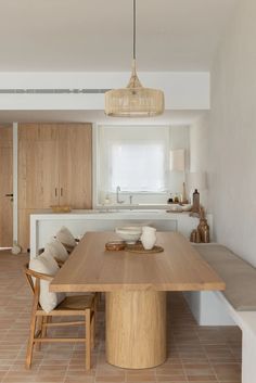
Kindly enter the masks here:
<path id="1" fill-rule="evenodd" d="M 166 110 L 208 110 L 208 72 L 142 72 L 145 87 L 165 92 Z M 124 88 L 129 72 L 97 73 L 0 73 L 2 89 L 110 89 Z M 104 94 L 18 94 L 0 92 L 0 111 L 103 110 Z"/>

